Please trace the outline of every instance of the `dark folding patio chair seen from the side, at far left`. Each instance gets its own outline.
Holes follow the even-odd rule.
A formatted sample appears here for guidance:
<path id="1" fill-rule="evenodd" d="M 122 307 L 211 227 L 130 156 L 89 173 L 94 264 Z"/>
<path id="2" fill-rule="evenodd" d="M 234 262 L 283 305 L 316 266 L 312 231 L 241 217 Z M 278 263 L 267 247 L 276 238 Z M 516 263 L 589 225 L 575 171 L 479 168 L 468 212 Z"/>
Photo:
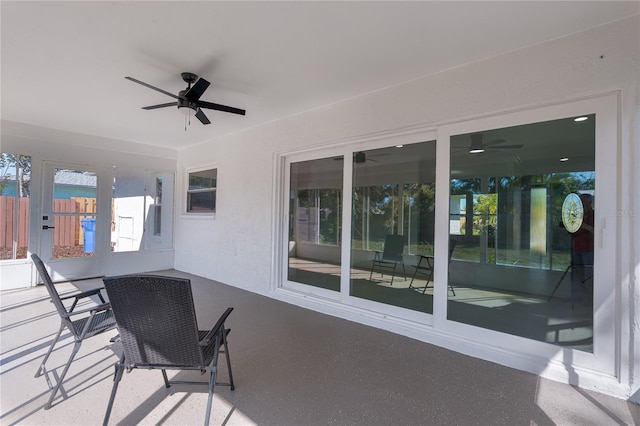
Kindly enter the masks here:
<path id="1" fill-rule="evenodd" d="M 101 291 L 104 290 L 103 287 L 94 288 L 92 290 L 82 291 L 79 293 L 74 293 L 71 295 L 67 295 L 64 297 L 60 297 L 58 291 L 56 290 L 53 282 L 51 281 L 51 277 L 47 272 L 42 260 L 36 254 L 31 255 L 31 259 L 33 263 L 36 265 L 36 269 L 40 274 L 40 278 L 44 282 L 44 285 L 49 292 L 49 296 L 51 297 L 51 302 L 56 307 L 58 314 L 60 315 L 60 329 L 58 330 L 58 334 L 51 342 L 51 346 L 49 346 L 49 350 L 47 354 L 42 359 L 40 363 L 40 367 L 38 367 L 38 371 L 36 371 L 35 377 L 40 377 L 43 374 L 46 375 L 47 383 L 49 387 L 52 388 L 51 395 L 49 396 L 49 401 L 44 406 L 45 410 L 51 408 L 51 404 L 53 403 L 53 399 L 55 398 L 60 386 L 62 386 L 62 382 L 64 380 L 67 371 L 69 370 L 69 366 L 71 362 L 75 358 L 80 346 L 82 345 L 82 341 L 89 337 L 95 336 L 97 334 L 104 333 L 105 331 L 109 331 L 115 328 L 116 321 L 113 317 L 113 312 L 110 309 L 109 303 L 105 302 L 104 297 L 102 296 Z M 76 305 L 82 299 L 90 298 L 92 296 L 96 296 L 100 299 L 100 304 L 96 305 L 95 303 L 91 307 L 83 308 L 75 311 Z M 64 304 L 65 301 L 73 299 L 73 303 L 69 308 L 67 308 Z M 74 319 L 75 318 L 75 319 Z M 73 350 L 71 351 L 71 355 L 69 356 L 69 360 L 67 364 L 64 366 L 64 370 L 60 377 L 58 378 L 55 386 L 51 385 L 49 380 L 49 375 L 47 374 L 47 369 L 45 364 L 47 359 L 49 359 L 49 355 L 51 355 L 51 351 L 53 351 L 53 347 L 58 342 L 60 338 L 60 334 L 62 334 L 62 330 L 65 328 L 69 329 L 71 334 L 73 335 L 73 339 L 75 344 L 73 346 Z"/>

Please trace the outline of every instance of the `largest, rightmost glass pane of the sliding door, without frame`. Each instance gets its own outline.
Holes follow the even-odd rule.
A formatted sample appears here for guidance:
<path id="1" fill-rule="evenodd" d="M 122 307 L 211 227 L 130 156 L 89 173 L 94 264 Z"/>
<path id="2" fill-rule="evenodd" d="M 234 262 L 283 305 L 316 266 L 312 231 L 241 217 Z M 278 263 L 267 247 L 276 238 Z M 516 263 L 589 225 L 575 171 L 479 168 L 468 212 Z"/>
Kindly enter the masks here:
<path id="1" fill-rule="evenodd" d="M 593 351 L 595 115 L 585 117 L 451 137 L 448 319 Z"/>

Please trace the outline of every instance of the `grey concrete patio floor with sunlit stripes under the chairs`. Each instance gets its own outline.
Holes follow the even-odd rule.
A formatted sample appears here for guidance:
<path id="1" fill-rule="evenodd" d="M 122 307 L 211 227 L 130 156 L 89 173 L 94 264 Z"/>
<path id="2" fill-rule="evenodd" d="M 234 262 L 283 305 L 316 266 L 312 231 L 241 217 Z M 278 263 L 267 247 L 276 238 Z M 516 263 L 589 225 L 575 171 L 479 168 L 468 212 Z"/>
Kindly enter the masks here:
<path id="1" fill-rule="evenodd" d="M 235 308 L 227 325 L 236 390 L 216 388 L 213 425 L 640 424 L 640 407 L 627 401 L 201 277 L 159 274 L 191 279 L 202 329 L 227 306 Z M 63 293 L 101 284 L 86 280 L 58 288 Z M 116 331 L 83 343 L 62 392 L 44 410 L 47 382 L 34 373 L 59 317 L 42 286 L 0 297 L 0 423 L 101 424 L 118 352 L 109 338 Z M 71 347 L 65 332 L 47 363 L 52 378 Z M 224 363 L 220 369 L 224 381 Z M 160 372 L 134 370 L 123 377 L 110 424 L 198 425 L 205 407 L 205 386 L 165 389 Z"/>

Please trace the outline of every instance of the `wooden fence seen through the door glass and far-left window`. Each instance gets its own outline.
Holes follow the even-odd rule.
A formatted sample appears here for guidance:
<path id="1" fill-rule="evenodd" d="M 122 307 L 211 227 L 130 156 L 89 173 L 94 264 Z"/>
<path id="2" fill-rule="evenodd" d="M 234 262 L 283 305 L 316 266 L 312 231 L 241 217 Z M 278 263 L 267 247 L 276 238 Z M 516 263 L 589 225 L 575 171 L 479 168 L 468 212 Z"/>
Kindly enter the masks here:
<path id="1" fill-rule="evenodd" d="M 29 198 L 18 199 L 18 249 L 27 247 L 29 224 Z M 0 196 L 0 247 L 13 247 L 13 230 L 16 227 L 14 213 L 16 198 Z M 96 199 L 86 197 L 72 197 L 53 201 L 53 211 L 56 213 L 95 213 Z M 73 247 L 82 244 L 83 232 L 80 226 L 80 216 L 54 215 L 53 245 L 54 247 Z"/>

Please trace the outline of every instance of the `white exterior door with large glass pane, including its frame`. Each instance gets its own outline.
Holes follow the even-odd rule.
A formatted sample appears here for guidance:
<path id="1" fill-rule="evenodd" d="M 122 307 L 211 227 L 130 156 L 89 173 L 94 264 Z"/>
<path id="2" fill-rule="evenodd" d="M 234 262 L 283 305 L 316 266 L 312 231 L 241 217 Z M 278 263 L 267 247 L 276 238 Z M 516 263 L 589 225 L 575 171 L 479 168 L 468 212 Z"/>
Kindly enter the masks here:
<path id="1" fill-rule="evenodd" d="M 44 164 L 40 256 L 54 280 L 102 275 L 109 228 L 105 184 L 107 176 L 96 168 Z"/>

